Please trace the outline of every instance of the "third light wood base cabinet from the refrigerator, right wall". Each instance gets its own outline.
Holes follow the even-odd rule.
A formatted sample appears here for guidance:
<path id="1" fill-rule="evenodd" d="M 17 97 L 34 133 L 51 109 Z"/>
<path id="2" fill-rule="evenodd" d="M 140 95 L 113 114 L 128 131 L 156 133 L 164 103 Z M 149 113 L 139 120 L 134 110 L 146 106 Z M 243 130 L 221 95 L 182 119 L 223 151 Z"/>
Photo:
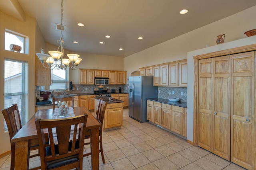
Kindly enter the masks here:
<path id="1" fill-rule="evenodd" d="M 171 130 L 171 105 L 162 103 L 162 127 Z"/>

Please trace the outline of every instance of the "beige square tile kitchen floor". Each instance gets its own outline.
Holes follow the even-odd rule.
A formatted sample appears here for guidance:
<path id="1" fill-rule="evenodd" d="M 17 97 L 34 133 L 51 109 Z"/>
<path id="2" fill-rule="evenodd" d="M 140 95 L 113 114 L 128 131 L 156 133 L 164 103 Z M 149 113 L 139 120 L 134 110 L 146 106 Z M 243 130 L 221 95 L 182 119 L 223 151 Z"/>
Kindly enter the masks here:
<path id="1" fill-rule="evenodd" d="M 106 164 L 100 170 L 244 170 L 151 123 L 139 123 L 124 109 L 121 129 L 103 132 Z M 90 146 L 84 152 L 90 151 Z M 40 165 L 40 157 L 30 159 L 30 168 Z M 10 155 L 0 159 L 0 170 L 10 169 Z M 83 170 L 90 170 L 90 156 Z"/>

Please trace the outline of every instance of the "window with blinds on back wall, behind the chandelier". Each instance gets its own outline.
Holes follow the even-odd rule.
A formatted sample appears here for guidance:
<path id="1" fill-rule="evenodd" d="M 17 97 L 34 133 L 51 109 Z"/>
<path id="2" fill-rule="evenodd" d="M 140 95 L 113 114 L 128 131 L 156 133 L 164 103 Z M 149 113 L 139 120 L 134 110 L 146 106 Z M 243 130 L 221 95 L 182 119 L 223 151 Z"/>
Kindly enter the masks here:
<path id="1" fill-rule="evenodd" d="M 60 64 L 60 61 L 57 61 L 57 64 Z M 68 90 L 69 84 L 69 70 L 57 69 L 54 68 L 51 72 L 51 85 L 50 90 Z"/>

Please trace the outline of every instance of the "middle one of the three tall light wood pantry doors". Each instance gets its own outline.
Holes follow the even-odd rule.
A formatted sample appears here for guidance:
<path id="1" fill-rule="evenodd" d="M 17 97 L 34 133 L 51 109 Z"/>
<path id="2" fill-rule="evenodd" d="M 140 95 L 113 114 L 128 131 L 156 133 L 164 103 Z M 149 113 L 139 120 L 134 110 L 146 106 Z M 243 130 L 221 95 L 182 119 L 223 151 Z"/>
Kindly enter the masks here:
<path id="1" fill-rule="evenodd" d="M 212 152 L 230 160 L 230 55 L 214 58 L 214 101 Z"/>

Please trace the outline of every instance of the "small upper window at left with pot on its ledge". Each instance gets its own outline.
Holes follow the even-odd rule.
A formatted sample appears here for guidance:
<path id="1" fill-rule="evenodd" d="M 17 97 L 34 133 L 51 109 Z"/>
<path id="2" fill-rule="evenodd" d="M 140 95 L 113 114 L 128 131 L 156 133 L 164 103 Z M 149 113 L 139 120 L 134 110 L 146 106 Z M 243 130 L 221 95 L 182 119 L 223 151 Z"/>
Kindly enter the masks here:
<path id="1" fill-rule="evenodd" d="M 8 31 L 5 32 L 5 42 L 4 42 L 5 50 L 11 51 L 10 45 L 14 44 L 21 47 L 20 53 L 24 53 L 24 42 L 25 42 L 25 37 L 22 37 L 18 34 L 11 33 Z"/>

